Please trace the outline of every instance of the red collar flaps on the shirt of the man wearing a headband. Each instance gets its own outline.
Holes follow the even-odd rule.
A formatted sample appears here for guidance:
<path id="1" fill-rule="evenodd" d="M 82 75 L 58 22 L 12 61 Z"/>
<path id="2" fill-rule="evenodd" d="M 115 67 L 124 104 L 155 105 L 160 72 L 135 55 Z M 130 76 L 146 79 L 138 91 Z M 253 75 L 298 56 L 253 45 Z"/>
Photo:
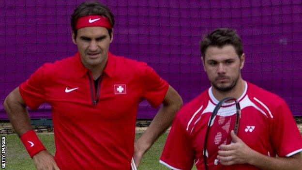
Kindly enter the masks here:
<path id="1" fill-rule="evenodd" d="M 76 64 L 76 70 L 79 75 L 79 77 L 83 77 L 87 74 L 88 71 L 90 71 L 88 68 L 86 68 L 80 58 L 80 53 L 77 52 L 74 56 L 75 64 Z M 108 75 L 109 77 L 112 77 L 115 70 L 115 57 L 108 51 L 108 60 L 106 63 L 106 67 L 104 69 L 104 73 Z"/>

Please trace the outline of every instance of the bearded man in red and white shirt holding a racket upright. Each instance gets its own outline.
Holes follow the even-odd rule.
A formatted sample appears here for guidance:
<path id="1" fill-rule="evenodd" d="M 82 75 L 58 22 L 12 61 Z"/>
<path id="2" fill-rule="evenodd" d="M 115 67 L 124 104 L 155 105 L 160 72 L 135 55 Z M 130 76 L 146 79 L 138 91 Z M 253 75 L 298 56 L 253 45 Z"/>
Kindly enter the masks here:
<path id="1" fill-rule="evenodd" d="M 191 170 L 193 163 L 204 170 L 211 113 L 220 100 L 234 97 L 242 113 L 237 136 L 231 133 L 235 143 L 221 145 L 217 157 L 208 155 L 208 169 L 301 170 L 302 137 L 292 113 L 279 96 L 242 79 L 245 55 L 236 32 L 217 29 L 200 49 L 211 87 L 177 113 L 160 162 L 173 170 Z"/>

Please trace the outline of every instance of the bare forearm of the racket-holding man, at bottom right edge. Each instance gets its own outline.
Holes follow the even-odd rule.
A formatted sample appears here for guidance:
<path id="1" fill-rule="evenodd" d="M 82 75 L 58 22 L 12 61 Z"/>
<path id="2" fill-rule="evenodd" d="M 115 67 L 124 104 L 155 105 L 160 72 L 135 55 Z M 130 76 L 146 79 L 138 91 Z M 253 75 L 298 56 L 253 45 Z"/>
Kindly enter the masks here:
<path id="1" fill-rule="evenodd" d="M 300 153 L 290 157 L 270 157 L 255 153 L 249 164 L 261 170 L 302 170 L 302 158 Z"/>

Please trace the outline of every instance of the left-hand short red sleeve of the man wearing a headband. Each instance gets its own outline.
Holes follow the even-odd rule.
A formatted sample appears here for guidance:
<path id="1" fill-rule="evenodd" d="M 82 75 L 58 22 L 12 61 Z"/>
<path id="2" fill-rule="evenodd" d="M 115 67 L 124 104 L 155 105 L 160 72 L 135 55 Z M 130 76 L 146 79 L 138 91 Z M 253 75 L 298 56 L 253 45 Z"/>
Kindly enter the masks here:
<path id="1" fill-rule="evenodd" d="M 44 69 L 44 66 L 40 67 L 19 86 L 20 95 L 31 109 L 37 109 L 46 102 Z"/>

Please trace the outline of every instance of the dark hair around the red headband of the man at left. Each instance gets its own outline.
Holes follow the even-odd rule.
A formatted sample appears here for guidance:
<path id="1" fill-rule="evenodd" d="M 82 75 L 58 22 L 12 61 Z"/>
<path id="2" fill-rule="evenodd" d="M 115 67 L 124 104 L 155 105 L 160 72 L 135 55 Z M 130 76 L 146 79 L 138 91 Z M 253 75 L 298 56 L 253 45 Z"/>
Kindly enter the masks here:
<path id="1" fill-rule="evenodd" d="M 71 15 L 71 28 L 75 33 L 75 39 L 77 35 L 76 21 L 81 16 L 87 15 L 103 15 L 109 19 L 109 22 L 113 28 L 114 26 L 114 15 L 111 13 L 110 9 L 106 7 L 103 3 L 98 1 L 86 1 L 81 3 Z M 112 29 L 107 29 L 111 38 Z"/>

